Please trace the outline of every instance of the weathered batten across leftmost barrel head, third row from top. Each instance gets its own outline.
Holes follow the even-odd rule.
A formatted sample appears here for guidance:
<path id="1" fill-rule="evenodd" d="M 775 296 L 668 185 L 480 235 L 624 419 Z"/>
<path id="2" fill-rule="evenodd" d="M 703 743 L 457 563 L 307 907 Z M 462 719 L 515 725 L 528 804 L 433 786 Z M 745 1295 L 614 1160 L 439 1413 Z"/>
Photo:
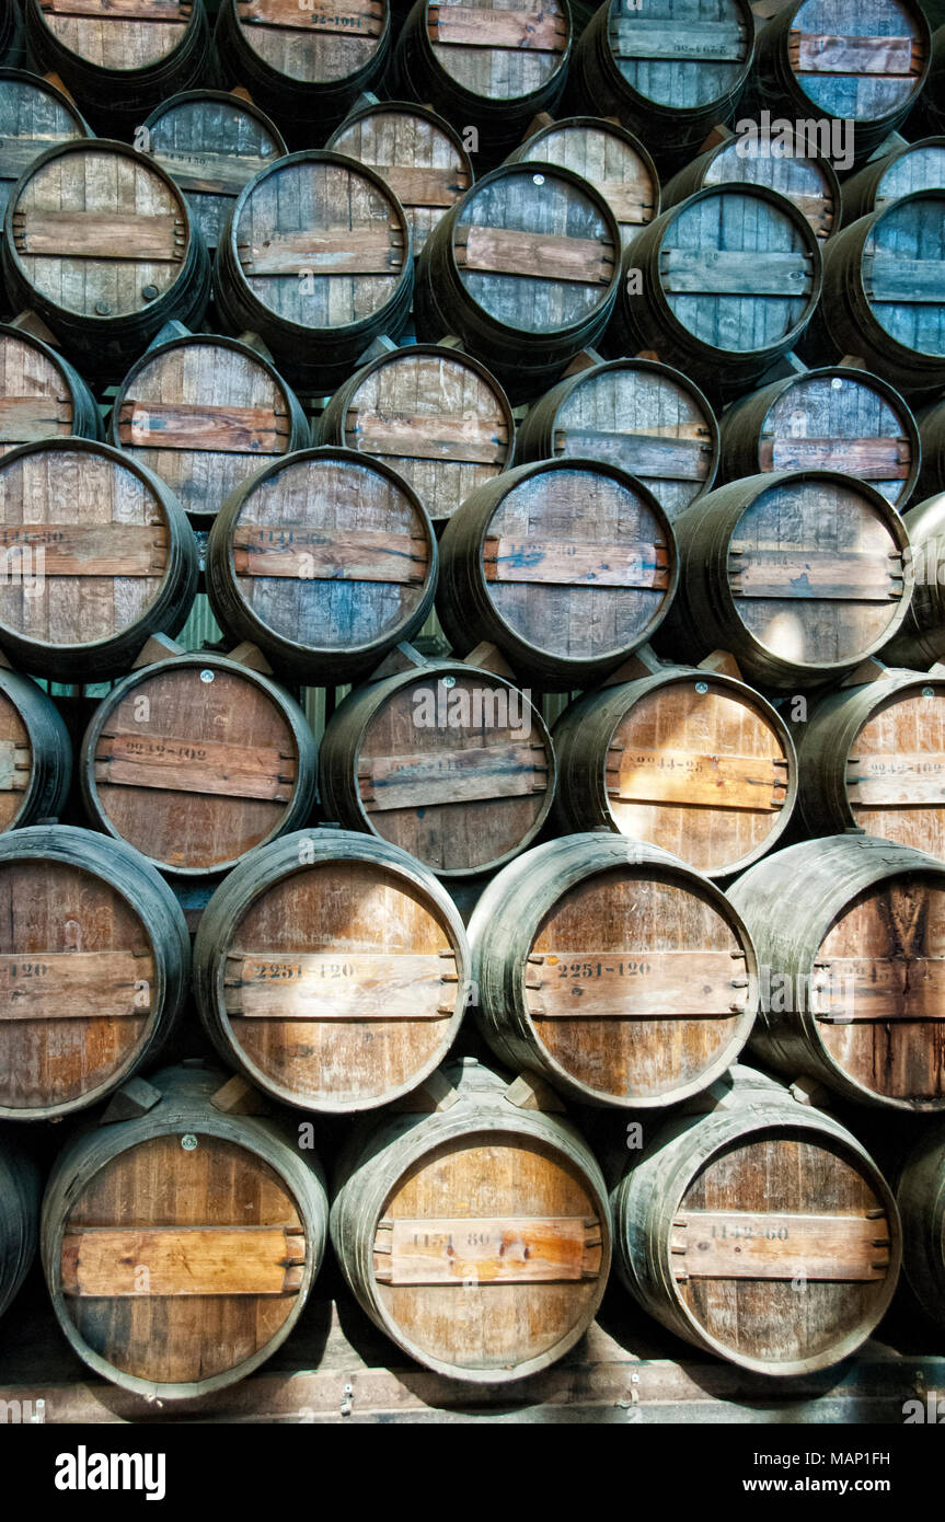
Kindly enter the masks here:
<path id="1" fill-rule="evenodd" d="M 143 212 L 14 212 L 18 254 L 41 259 L 128 259 L 183 263 L 187 227 Z"/>

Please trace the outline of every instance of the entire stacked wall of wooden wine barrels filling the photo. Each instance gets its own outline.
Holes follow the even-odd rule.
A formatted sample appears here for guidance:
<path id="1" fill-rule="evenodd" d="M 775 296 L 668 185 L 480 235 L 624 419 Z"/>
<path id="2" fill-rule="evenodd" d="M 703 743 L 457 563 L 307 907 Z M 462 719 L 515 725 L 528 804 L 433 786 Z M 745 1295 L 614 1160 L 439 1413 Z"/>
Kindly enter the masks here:
<path id="1" fill-rule="evenodd" d="M 0 1309 L 175 1402 L 329 1234 L 482 1399 L 612 1256 L 752 1374 L 945 1326 L 942 33 L 15 9 Z"/>

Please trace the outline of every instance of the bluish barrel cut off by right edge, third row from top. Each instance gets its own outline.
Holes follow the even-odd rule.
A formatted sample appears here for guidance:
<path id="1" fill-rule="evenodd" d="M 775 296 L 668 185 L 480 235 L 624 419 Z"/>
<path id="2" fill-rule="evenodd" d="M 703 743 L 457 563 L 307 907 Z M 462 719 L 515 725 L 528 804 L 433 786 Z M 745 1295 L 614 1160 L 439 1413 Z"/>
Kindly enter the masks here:
<path id="1" fill-rule="evenodd" d="M 858 356 L 904 391 L 945 387 L 945 190 L 916 190 L 845 227 L 823 250 L 823 298 L 800 353 Z"/>

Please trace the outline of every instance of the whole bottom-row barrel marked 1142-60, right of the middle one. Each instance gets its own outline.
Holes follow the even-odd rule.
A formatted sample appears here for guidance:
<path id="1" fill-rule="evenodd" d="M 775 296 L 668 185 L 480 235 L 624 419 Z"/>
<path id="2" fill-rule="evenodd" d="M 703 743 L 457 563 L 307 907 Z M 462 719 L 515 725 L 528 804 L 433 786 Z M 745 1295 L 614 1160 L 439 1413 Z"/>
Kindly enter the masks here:
<path id="1" fill-rule="evenodd" d="M 732 1079 L 635 1166 L 624 1151 L 615 1265 L 686 1342 L 759 1374 L 810 1374 L 854 1353 L 887 1310 L 902 1259 L 896 1202 L 832 1116 L 747 1068 Z"/>

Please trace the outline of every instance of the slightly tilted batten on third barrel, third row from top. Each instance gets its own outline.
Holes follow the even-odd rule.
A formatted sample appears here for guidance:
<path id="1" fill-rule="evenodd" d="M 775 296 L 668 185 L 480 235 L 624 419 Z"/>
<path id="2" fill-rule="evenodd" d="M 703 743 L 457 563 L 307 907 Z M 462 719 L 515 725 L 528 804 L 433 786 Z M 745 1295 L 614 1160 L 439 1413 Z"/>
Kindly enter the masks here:
<path id="1" fill-rule="evenodd" d="M 473 274 L 527 280 L 610 285 L 615 269 L 612 244 L 554 233 L 522 233 L 510 227 L 457 227 L 453 254 L 457 265 Z"/>

